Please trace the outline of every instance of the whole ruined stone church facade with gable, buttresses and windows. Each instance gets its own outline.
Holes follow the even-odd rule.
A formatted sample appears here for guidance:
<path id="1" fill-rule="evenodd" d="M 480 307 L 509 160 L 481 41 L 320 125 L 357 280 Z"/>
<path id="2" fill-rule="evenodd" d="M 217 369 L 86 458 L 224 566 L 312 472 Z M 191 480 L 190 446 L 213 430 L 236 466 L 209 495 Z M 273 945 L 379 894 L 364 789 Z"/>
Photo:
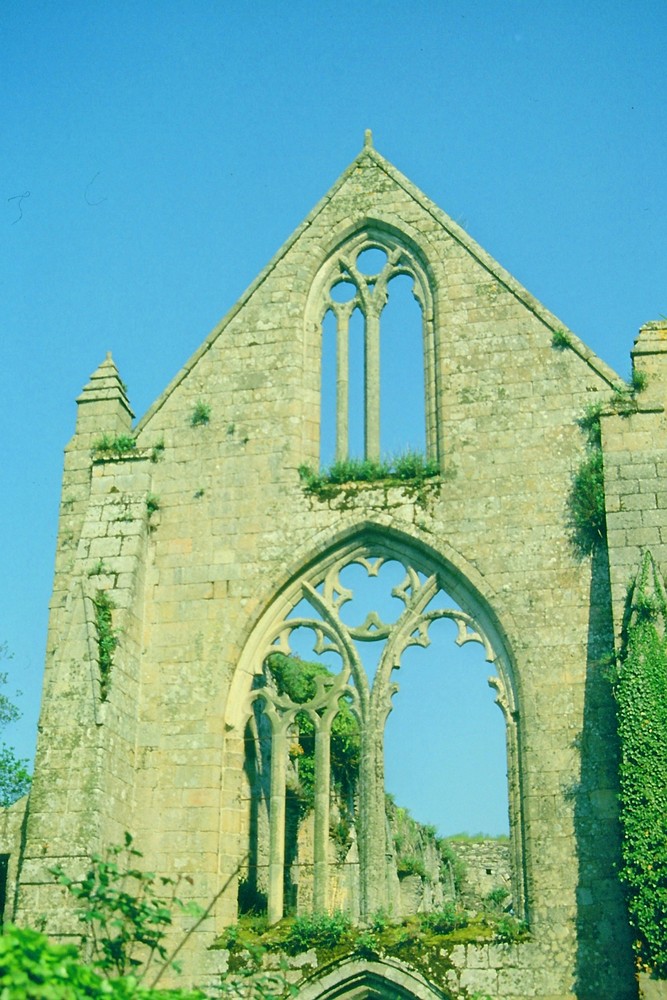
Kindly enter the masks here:
<path id="1" fill-rule="evenodd" d="M 394 360 L 423 369 L 424 465 L 332 483 L 317 475 L 325 432 L 339 462 L 360 424 L 366 462 L 382 457 L 396 278 L 420 317 Z M 474 907 L 506 885 L 528 933 L 443 944 L 419 968 L 303 956 L 293 988 L 303 1000 L 636 996 L 601 664 L 643 550 L 667 558 L 666 352 L 667 325 L 643 327 L 632 358 L 646 386 L 630 391 L 367 137 L 137 423 L 108 356 L 65 450 L 35 776 L 0 820 L 5 918 L 73 933 L 49 869 L 85 870 L 124 831 L 209 907 L 184 983 L 224 973 L 215 944 L 253 899 L 271 924 L 343 908 L 360 928 L 440 906 L 440 859 L 422 844 L 410 871 L 396 848 L 383 740 L 404 651 L 446 620 L 489 661 L 506 733 L 509 842 L 460 848 L 477 873 L 461 891 Z M 570 501 L 591 413 L 605 517 L 582 551 Z M 391 620 L 350 624 L 351 566 L 399 567 Z M 300 659 L 304 630 L 314 652 Z"/>

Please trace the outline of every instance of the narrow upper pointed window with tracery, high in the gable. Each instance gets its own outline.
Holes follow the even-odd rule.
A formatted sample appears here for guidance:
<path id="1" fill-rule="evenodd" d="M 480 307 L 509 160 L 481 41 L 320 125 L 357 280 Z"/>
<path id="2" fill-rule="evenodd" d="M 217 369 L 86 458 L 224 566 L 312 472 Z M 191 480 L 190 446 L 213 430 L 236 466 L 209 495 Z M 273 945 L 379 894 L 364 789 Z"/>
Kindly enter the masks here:
<path id="1" fill-rule="evenodd" d="M 417 254 L 366 230 L 316 282 L 322 323 L 320 461 L 405 448 L 437 458 L 432 295 Z"/>

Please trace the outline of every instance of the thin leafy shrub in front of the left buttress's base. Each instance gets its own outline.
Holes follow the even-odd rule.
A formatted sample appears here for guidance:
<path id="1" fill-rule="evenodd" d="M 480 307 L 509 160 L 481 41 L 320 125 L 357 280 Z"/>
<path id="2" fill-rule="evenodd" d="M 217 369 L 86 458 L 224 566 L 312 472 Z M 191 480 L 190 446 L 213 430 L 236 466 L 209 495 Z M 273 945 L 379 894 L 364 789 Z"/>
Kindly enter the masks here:
<path id="1" fill-rule="evenodd" d="M 132 973 L 139 982 L 154 959 L 163 966 L 169 963 L 165 939 L 172 908 L 187 910 L 176 897 L 177 880 L 144 871 L 137 866 L 141 857 L 126 833 L 123 844 L 93 855 L 80 882 L 60 866 L 51 869 L 78 903 L 81 946 L 90 954 L 91 965 L 104 975 Z"/>

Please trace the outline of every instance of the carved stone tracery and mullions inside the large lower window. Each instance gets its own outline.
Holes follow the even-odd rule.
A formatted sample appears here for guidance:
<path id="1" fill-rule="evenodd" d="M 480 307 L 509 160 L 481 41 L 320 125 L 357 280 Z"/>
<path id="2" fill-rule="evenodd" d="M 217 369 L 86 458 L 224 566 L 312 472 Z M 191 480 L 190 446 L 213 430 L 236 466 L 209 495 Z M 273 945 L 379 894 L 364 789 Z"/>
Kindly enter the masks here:
<path id="1" fill-rule="evenodd" d="M 387 615 L 370 611 L 363 621 L 353 623 L 346 613 L 355 593 L 341 580 L 350 566 L 361 568 L 368 579 L 377 578 L 396 555 L 383 551 L 381 545 L 364 548 L 356 554 L 342 555 L 329 565 L 321 578 L 304 579 L 291 609 L 269 631 L 260 651 L 261 672 L 255 676 L 250 693 L 249 711 L 255 720 L 255 739 L 261 726 L 266 727 L 265 742 L 270 743 L 270 773 L 264 776 L 268 802 L 268 916 L 279 920 L 285 909 L 287 795 L 290 769 L 302 752 L 301 720 L 307 720 L 312 739 L 312 908 L 323 912 L 331 900 L 332 828 L 332 736 L 341 713 L 352 716 L 358 727 L 358 774 L 353 794 L 356 800 L 356 852 L 358 861 L 358 910 L 362 919 L 380 909 L 391 911 L 388 878 L 390 847 L 387 843 L 384 785 L 384 732 L 392 698 L 398 690 L 393 672 L 412 646 L 427 647 L 429 630 L 441 620 L 456 626 L 457 645 L 480 644 L 489 662 L 497 656 L 489 637 L 474 618 L 456 606 L 444 590 L 438 574 L 423 572 L 411 560 L 401 559 L 402 580 L 391 588 L 396 613 Z M 308 642 L 304 644 L 304 633 Z M 376 656 L 365 650 L 373 647 Z M 272 658 L 298 657 L 309 648 L 325 666 L 311 671 L 300 690 L 277 679 Z M 363 652 L 362 652 L 363 651 Z M 369 663 L 376 659 L 374 669 Z M 502 671 L 490 680 L 498 694 L 498 704 L 508 726 L 512 725 L 511 689 Z M 297 765 L 298 766 L 298 765 Z"/>

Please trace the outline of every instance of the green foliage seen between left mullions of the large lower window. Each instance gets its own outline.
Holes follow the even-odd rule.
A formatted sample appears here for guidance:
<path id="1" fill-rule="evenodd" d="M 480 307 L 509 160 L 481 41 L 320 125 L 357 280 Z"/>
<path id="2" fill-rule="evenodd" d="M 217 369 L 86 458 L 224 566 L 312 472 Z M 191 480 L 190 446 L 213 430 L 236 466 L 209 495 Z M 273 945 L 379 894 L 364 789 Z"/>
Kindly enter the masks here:
<path id="1" fill-rule="evenodd" d="M 270 653 L 266 666 L 275 681 L 278 694 L 286 694 L 293 702 L 303 705 L 316 693 L 316 678 L 331 677 L 322 663 L 300 660 L 298 656 Z M 350 706 L 341 698 L 339 711 L 331 725 L 331 778 L 343 795 L 356 784 L 361 754 L 359 723 Z M 315 801 L 315 724 L 307 712 L 299 712 L 296 722 L 298 739 L 291 750 L 298 761 L 299 795 L 303 809 L 308 811 Z"/>

